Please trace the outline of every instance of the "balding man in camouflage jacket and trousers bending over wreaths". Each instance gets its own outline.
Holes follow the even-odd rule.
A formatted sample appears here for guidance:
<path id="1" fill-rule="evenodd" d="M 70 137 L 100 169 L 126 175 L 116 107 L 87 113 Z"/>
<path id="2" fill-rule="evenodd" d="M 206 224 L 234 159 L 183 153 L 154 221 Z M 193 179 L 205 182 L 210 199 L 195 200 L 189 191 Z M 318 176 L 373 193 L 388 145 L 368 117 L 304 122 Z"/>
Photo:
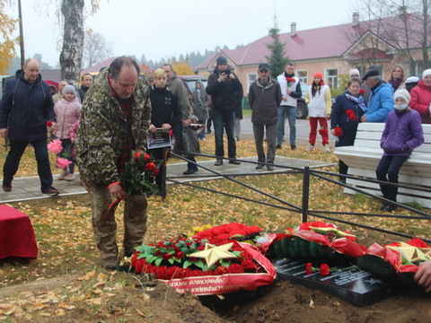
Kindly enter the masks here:
<path id="1" fill-rule="evenodd" d="M 107 269 L 119 266 L 115 217 L 100 221 L 112 196 L 126 202 L 125 256 L 142 244 L 146 231 L 145 195 L 128 196 L 119 183 L 131 151 L 144 153 L 151 120 L 148 88 L 138 75 L 139 66 L 129 57 L 118 57 L 102 71 L 85 95 L 76 135 L 76 162 L 92 202 L 94 238 Z"/>

